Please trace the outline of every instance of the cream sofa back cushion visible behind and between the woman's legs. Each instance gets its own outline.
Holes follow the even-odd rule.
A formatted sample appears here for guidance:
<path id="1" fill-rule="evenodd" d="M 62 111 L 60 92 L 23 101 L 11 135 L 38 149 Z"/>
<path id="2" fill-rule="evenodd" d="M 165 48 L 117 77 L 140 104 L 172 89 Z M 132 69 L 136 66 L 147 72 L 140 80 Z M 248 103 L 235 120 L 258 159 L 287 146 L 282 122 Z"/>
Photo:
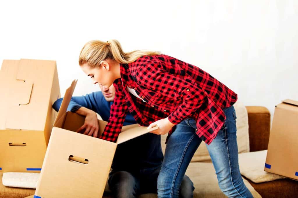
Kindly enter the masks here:
<path id="1" fill-rule="evenodd" d="M 237 126 L 237 143 L 238 143 L 238 153 L 249 152 L 249 133 L 248 133 L 248 115 L 246 107 L 243 103 L 237 101 L 234 104 L 236 111 L 236 126 Z M 167 134 L 162 135 L 162 151 L 165 151 L 166 144 L 164 144 Z M 206 144 L 201 143 L 198 150 L 193 155 L 191 162 L 202 162 L 211 161 Z"/>

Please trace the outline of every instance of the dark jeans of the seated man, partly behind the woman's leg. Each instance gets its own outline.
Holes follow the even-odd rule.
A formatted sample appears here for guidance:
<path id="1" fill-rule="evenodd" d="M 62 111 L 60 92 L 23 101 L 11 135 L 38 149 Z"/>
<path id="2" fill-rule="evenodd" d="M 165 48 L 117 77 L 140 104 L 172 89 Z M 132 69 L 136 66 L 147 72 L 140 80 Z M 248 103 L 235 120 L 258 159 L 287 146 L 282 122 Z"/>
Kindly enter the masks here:
<path id="1" fill-rule="evenodd" d="M 157 177 L 161 166 L 139 170 L 139 172 L 111 172 L 108 179 L 109 188 L 115 198 L 135 198 L 140 194 L 157 193 Z M 179 197 L 193 197 L 193 182 L 187 175 L 183 176 Z"/>

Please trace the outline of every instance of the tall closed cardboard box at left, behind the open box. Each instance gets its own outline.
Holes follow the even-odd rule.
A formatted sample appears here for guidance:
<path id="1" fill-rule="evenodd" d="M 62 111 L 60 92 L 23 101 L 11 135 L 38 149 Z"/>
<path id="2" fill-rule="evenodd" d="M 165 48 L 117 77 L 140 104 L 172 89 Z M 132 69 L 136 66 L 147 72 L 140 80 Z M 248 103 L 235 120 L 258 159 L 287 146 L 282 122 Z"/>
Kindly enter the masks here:
<path id="1" fill-rule="evenodd" d="M 60 98 L 56 61 L 3 60 L 0 171 L 40 172 Z"/>

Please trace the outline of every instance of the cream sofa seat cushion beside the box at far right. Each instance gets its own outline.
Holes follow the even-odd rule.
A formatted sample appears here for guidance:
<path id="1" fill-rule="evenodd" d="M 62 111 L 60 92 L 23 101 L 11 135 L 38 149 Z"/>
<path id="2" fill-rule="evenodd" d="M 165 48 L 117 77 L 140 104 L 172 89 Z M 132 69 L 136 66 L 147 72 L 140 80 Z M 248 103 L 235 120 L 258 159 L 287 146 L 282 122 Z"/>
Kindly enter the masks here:
<path id="1" fill-rule="evenodd" d="M 267 150 L 239 154 L 241 175 L 254 183 L 273 181 L 286 177 L 264 171 Z"/>

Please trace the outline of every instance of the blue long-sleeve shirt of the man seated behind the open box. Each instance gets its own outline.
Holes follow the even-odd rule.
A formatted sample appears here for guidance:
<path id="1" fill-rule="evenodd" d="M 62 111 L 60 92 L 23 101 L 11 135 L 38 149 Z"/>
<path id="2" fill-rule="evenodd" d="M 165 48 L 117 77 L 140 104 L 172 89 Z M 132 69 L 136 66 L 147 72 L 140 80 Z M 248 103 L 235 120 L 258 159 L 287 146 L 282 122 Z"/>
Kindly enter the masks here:
<path id="1" fill-rule="evenodd" d="M 53 104 L 56 111 L 59 111 L 62 100 L 63 98 L 60 98 Z M 75 112 L 81 107 L 86 107 L 98 113 L 104 121 L 108 121 L 112 104 L 113 102 L 105 100 L 102 92 L 92 92 L 85 96 L 73 96 L 67 111 Z M 136 120 L 128 113 L 123 125 L 130 124 L 136 124 Z M 142 169 L 160 166 L 162 160 L 160 135 L 146 133 L 117 146 L 112 169 L 114 171 L 124 170 L 137 173 Z"/>

